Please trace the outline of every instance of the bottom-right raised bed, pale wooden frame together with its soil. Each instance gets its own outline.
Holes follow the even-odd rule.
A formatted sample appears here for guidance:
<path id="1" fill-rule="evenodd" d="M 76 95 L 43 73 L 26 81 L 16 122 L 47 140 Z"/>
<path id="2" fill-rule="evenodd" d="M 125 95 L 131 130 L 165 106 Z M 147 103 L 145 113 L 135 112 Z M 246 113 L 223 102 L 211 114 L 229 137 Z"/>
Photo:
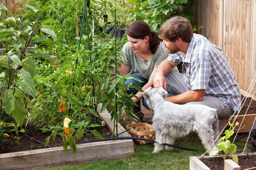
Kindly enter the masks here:
<path id="1" fill-rule="evenodd" d="M 190 170 L 211 170 L 211 168 L 208 167 L 206 164 L 204 164 L 202 161 L 204 161 L 204 160 L 214 160 L 214 159 L 217 159 L 213 163 L 215 165 L 214 169 L 240 170 L 240 169 L 254 167 L 255 157 L 256 157 L 255 153 L 237 154 L 237 156 L 238 156 L 239 165 L 231 159 L 226 159 L 225 161 L 223 161 L 223 158 L 221 156 L 204 156 L 204 157 L 190 156 L 190 158 L 189 158 L 189 169 Z M 247 158 L 247 157 L 249 157 L 249 158 Z M 218 160 L 220 160 L 220 161 L 218 161 Z M 248 163 L 246 163 L 247 161 L 250 161 L 252 163 L 254 162 L 254 165 L 253 164 L 248 165 Z M 221 163 L 222 163 L 222 167 L 218 167 L 218 165 L 221 165 Z M 224 168 L 223 168 L 223 166 L 224 166 Z"/>

